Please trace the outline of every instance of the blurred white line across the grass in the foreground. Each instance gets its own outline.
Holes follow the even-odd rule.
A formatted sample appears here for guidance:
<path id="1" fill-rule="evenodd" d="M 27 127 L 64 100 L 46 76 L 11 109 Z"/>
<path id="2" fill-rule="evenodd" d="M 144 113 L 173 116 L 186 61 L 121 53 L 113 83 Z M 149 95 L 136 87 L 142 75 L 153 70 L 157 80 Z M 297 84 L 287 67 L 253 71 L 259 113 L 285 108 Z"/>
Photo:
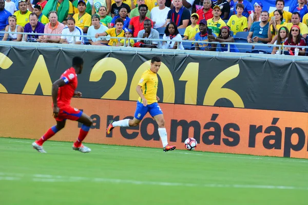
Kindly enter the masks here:
<path id="1" fill-rule="evenodd" d="M 222 185 L 218 183 L 178 183 L 161 181 L 139 181 L 130 179 L 111 179 L 111 178 L 90 178 L 79 176 L 61 176 L 47 174 L 14 174 L 0 172 L 0 181 L 21 181 L 31 180 L 35 182 L 98 182 L 98 183 L 126 183 L 131 185 L 152 185 L 152 186 L 170 186 L 170 187 L 211 187 L 211 188 L 238 188 L 238 189 L 280 189 L 280 190 L 308 190 L 308 187 L 295 186 L 272 186 L 272 185 Z"/>

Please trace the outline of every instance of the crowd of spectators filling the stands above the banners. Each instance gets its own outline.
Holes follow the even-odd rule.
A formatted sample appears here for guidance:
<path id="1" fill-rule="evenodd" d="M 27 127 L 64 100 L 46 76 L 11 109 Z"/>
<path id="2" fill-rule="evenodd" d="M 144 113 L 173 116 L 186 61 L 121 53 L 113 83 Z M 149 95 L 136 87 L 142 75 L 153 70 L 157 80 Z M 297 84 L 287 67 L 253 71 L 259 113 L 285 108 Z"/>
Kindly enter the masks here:
<path id="1" fill-rule="evenodd" d="M 298 0 L 288 11 L 284 0 L 276 0 L 276 10 L 271 13 L 263 10 L 265 1 L 252 5 L 248 0 L 0 0 L 0 30 L 29 33 L 1 36 L 19 42 L 222 52 L 228 50 L 224 43 L 236 42 L 246 43 L 247 51 L 257 47 L 249 47 L 250 43 L 257 43 L 272 54 L 306 55 L 304 48 L 292 46 L 308 43 L 307 0 Z M 162 41 L 151 40 L 158 38 Z M 239 47 L 230 45 L 229 51 L 241 52 Z"/>

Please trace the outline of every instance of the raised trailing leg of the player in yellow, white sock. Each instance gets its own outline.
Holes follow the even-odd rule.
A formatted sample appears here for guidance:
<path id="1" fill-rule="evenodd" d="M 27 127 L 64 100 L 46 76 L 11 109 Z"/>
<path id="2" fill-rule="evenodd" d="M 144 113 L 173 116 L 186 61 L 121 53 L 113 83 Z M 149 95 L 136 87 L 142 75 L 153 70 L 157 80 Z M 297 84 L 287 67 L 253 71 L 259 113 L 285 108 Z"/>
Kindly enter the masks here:
<path id="1" fill-rule="evenodd" d="M 144 115 L 148 112 L 148 107 L 143 106 L 142 103 L 137 101 L 137 108 L 133 119 L 122 119 L 119 121 L 111 120 L 107 127 L 107 134 L 110 134 L 111 130 L 115 127 L 136 127 L 141 122 Z"/>

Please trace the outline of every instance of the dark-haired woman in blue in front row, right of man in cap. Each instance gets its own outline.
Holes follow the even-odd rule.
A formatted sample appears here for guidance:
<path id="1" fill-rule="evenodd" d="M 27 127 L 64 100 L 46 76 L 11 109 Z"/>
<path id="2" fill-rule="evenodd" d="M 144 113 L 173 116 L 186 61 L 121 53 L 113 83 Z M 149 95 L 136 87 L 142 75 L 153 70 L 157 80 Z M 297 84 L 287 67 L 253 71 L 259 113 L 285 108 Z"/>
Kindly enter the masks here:
<path id="1" fill-rule="evenodd" d="M 224 26 L 220 29 L 217 37 L 210 35 L 208 38 L 210 42 L 234 43 L 234 38 L 230 35 L 230 29 L 227 26 Z M 227 44 L 217 44 L 217 47 L 222 52 L 228 51 Z M 240 51 L 234 44 L 230 44 L 230 52 L 239 53 Z"/>

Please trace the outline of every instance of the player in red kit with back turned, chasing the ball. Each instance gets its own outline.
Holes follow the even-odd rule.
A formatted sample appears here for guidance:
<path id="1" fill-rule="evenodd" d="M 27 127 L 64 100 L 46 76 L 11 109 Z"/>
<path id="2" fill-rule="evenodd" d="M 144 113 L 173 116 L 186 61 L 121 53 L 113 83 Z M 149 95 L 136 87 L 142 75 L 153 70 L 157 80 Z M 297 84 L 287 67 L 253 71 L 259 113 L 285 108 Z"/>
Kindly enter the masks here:
<path id="1" fill-rule="evenodd" d="M 67 69 L 60 79 L 52 84 L 52 107 L 56 125 L 51 127 L 40 139 L 32 143 L 33 148 L 38 152 L 46 153 L 43 149 L 43 143 L 65 127 L 66 119 L 79 121 L 83 124 L 78 139 L 73 144 L 73 150 L 83 153 L 91 151 L 90 148 L 82 145 L 82 141 L 90 130 L 92 119 L 82 111 L 70 106 L 70 100 L 73 96 L 82 96 L 81 92 L 75 91 L 78 85 L 77 74 L 81 74 L 82 69 L 83 59 L 74 57 L 72 67 Z"/>

